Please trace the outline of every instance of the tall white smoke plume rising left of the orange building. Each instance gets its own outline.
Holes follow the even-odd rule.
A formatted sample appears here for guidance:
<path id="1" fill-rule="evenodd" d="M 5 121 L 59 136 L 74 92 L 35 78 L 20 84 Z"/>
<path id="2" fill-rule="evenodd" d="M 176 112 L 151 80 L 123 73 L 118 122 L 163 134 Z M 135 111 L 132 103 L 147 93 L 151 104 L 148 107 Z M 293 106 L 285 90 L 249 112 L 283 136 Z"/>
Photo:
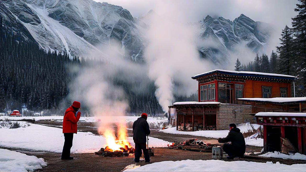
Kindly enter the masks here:
<path id="1" fill-rule="evenodd" d="M 196 92 L 197 84 L 191 77 L 210 69 L 199 59 L 195 43 L 195 30 L 175 3 L 156 1 L 146 32 L 148 45 L 144 58 L 148 77 L 155 82 L 155 95 L 164 112 L 174 101 L 174 95 L 188 96 Z M 179 85 L 175 85 L 175 83 Z M 174 90 L 174 88 L 176 88 Z M 179 92 L 177 90 L 180 90 Z"/>

